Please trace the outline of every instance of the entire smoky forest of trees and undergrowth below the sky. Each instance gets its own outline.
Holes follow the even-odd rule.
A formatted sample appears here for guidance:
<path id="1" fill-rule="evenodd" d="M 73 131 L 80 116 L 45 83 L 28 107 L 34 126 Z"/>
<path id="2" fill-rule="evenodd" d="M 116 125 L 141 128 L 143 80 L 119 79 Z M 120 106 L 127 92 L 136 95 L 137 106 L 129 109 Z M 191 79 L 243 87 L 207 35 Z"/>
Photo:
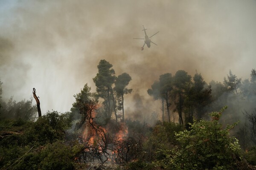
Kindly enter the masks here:
<path id="1" fill-rule="evenodd" d="M 132 77 L 100 60 L 70 111 L 40 111 L 40 98 L 1 97 L 2 170 L 256 170 L 256 70 L 223 82 L 184 70 L 159 75 L 147 94 L 161 113 L 131 119 Z M 35 87 L 36 88 L 36 87 Z M 31 89 L 32 90 L 32 89 Z M 72 96 L 66 96 L 72 97 Z"/>

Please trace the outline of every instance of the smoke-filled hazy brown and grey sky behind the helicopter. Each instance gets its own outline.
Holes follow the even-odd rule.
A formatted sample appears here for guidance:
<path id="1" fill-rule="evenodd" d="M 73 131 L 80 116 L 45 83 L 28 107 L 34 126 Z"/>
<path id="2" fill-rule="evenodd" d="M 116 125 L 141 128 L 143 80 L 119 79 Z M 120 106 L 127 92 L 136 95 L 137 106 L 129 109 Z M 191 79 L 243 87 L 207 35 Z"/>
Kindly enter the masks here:
<path id="1" fill-rule="evenodd" d="M 144 51 L 133 39 L 144 38 L 142 25 L 160 31 Z M 161 74 L 246 79 L 255 54 L 256 0 L 0 0 L 3 98 L 29 99 L 35 88 L 43 113 L 69 111 L 85 83 L 95 91 L 100 59 L 132 77 L 132 113 L 159 111 L 146 91 Z"/>

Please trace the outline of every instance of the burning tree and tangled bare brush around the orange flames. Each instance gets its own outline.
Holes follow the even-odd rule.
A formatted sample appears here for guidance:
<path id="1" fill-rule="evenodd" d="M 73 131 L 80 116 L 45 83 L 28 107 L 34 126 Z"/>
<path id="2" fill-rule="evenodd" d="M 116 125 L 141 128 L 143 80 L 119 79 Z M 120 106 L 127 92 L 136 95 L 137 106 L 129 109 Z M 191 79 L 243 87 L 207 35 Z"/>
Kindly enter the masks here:
<path id="1" fill-rule="evenodd" d="M 97 123 L 102 122 L 105 117 L 102 118 L 100 112 L 97 113 L 98 96 L 90 93 L 87 85 L 81 93 L 75 95 L 75 98 L 76 102 L 71 110 L 73 113 L 78 111 L 81 115 L 81 121 L 76 124 L 76 129 L 81 130 L 81 142 L 84 144 L 84 150 L 76 160 L 101 164 L 105 162 L 122 164 L 136 160 L 141 142 L 128 135 L 125 122 L 108 119 L 104 120 L 104 125 Z"/>

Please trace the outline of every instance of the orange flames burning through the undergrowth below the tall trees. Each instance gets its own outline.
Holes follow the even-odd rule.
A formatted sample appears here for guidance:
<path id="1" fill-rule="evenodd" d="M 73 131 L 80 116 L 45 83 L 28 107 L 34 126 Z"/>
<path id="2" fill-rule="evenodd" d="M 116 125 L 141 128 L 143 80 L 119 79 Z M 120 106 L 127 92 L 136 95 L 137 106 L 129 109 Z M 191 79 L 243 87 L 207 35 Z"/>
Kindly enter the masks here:
<path id="1" fill-rule="evenodd" d="M 96 159 L 102 164 L 105 161 L 116 163 L 127 159 L 127 156 L 123 156 L 123 154 L 128 154 L 128 150 L 132 146 L 125 143 L 125 140 L 128 139 L 128 127 L 125 122 L 110 120 L 103 127 L 93 121 L 95 113 L 92 115 L 93 117 L 91 116 L 86 121 L 82 133 L 85 144 L 84 155 L 87 155 L 84 159 L 86 161 Z"/>

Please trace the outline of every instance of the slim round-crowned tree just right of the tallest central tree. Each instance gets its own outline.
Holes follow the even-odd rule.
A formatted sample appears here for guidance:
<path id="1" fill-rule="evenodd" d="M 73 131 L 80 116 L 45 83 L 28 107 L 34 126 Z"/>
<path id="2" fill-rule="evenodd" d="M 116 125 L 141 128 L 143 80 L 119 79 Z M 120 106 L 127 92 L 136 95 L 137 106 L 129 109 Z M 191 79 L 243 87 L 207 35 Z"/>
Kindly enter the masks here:
<path id="1" fill-rule="evenodd" d="M 116 78 L 115 87 L 113 88 L 114 91 L 116 91 L 116 96 L 122 99 L 122 121 L 124 121 L 124 94 L 129 94 L 132 91 L 132 89 L 127 88 L 130 81 L 131 76 L 127 73 L 123 73 Z"/>

